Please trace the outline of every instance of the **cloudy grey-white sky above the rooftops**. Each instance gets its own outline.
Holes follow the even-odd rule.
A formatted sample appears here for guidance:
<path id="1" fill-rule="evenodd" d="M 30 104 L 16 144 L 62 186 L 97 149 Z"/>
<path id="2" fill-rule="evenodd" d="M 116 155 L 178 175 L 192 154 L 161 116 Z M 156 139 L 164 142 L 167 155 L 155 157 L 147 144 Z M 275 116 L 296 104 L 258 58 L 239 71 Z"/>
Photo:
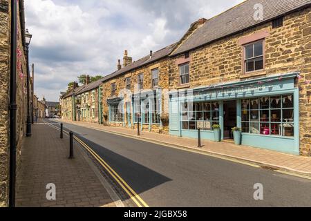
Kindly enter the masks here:
<path id="1" fill-rule="evenodd" d="M 124 50 L 136 61 L 175 43 L 190 24 L 243 0 L 26 0 L 35 94 L 58 101 L 77 76 L 109 75 Z"/>

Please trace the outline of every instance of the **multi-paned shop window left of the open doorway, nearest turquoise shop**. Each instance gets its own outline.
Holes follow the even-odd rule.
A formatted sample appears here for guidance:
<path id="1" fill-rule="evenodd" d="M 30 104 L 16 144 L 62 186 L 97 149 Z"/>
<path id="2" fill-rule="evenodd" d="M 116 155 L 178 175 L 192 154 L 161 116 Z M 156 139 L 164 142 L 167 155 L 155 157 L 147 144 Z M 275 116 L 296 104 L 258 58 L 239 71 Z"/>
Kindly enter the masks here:
<path id="1" fill-rule="evenodd" d="M 182 108 L 182 129 L 211 131 L 214 124 L 219 124 L 218 102 L 194 102 L 192 110 L 189 104 L 184 102 Z"/>

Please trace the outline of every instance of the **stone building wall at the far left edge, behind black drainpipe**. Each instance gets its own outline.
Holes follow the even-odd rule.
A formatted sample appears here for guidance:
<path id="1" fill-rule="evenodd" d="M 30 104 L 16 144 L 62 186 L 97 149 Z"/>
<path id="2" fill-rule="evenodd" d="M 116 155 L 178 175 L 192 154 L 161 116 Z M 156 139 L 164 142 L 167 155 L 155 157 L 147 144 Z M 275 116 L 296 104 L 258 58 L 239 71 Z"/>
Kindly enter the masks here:
<path id="1" fill-rule="evenodd" d="M 8 206 L 10 139 L 16 135 L 17 164 L 20 163 L 21 145 L 26 135 L 27 84 L 26 39 L 23 1 L 17 3 L 17 76 L 16 76 L 16 131 L 10 131 L 10 70 L 11 62 L 11 1 L 0 1 L 0 206 Z M 14 142 L 14 141 L 12 141 Z M 17 166 L 18 168 L 18 166 Z"/>

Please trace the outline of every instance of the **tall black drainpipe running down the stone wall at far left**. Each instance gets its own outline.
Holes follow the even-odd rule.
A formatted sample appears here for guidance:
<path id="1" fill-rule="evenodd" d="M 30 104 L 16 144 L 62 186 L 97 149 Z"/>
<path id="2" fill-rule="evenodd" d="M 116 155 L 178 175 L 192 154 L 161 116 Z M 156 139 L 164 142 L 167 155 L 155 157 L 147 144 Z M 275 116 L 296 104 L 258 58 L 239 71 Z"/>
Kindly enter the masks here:
<path id="1" fill-rule="evenodd" d="M 16 76 L 17 76 L 17 1 L 11 1 L 11 47 L 10 47 L 10 171 L 9 206 L 15 207 L 16 177 Z"/>

